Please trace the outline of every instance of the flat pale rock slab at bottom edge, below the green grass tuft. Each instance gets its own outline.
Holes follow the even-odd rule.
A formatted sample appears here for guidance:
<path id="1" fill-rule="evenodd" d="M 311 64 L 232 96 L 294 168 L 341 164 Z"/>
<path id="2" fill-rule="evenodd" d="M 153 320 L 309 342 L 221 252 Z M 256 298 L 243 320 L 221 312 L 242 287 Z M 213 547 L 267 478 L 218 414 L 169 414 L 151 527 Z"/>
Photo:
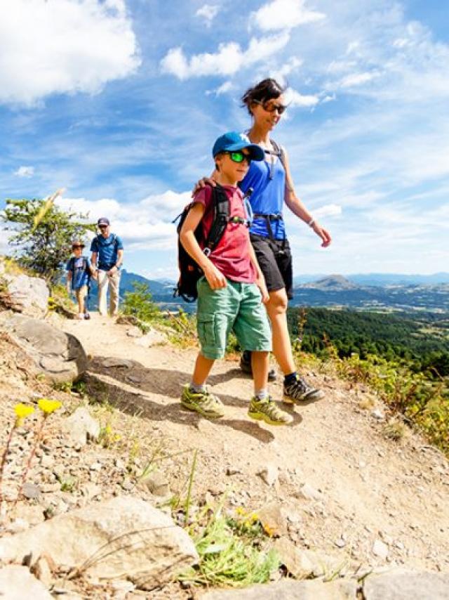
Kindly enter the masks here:
<path id="1" fill-rule="evenodd" d="M 269 585 L 245 589 L 217 589 L 199 596 L 199 600 L 356 600 L 355 580 L 321 581 L 281 580 Z"/>

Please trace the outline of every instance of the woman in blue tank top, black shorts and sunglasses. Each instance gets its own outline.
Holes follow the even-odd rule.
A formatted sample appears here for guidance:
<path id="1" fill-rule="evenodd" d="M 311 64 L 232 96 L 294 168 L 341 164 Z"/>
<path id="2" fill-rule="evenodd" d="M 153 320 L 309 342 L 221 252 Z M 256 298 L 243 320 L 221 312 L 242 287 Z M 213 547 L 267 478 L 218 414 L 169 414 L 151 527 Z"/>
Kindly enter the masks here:
<path id="1" fill-rule="evenodd" d="M 293 404 L 319 400 L 324 393 L 309 385 L 297 373 L 293 358 L 287 326 L 288 300 L 293 297 L 293 268 L 283 222 L 284 203 L 314 230 L 321 239 L 321 246 L 328 247 L 331 238 L 297 197 L 286 150 L 270 137 L 286 110 L 284 91 L 274 79 L 264 79 L 249 88 L 241 98 L 252 119 L 249 131 L 242 135 L 263 148 L 265 159 L 261 162 L 252 161 L 248 174 L 239 185 L 243 193 L 253 188 L 250 204 L 254 220 L 250 227 L 250 239 L 269 292 L 265 308 L 272 324 L 273 353 L 284 377 L 283 401 Z M 214 175 L 215 171 L 211 178 L 201 179 L 196 188 L 203 187 L 206 182 L 214 185 Z M 243 351 L 242 370 L 250 373 L 250 365 L 250 353 Z M 271 379 L 275 379 L 274 372 L 270 372 L 270 375 Z"/>

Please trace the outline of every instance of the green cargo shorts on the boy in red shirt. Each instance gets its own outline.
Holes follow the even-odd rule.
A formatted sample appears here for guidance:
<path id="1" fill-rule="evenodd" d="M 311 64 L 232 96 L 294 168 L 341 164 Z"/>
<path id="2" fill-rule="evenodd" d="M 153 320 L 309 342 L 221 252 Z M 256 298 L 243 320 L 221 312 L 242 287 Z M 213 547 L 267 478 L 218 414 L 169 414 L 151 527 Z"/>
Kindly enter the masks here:
<path id="1" fill-rule="evenodd" d="M 198 282 L 196 322 L 201 354 L 206 358 L 225 356 L 231 330 L 242 350 L 269 352 L 272 349 L 272 332 L 255 283 L 228 279 L 226 287 L 211 289 L 202 277 Z"/>

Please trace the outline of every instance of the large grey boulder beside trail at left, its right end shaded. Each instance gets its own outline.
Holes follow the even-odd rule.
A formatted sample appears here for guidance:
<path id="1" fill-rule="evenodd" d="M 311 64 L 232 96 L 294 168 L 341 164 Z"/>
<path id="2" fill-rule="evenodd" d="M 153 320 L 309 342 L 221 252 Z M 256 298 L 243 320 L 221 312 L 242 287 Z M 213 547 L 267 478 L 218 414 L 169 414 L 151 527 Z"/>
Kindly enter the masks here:
<path id="1" fill-rule="evenodd" d="M 36 372 L 53 383 L 76 381 L 86 371 L 88 360 L 81 342 L 47 322 L 5 311 L 0 313 L 0 330 L 32 358 Z"/>

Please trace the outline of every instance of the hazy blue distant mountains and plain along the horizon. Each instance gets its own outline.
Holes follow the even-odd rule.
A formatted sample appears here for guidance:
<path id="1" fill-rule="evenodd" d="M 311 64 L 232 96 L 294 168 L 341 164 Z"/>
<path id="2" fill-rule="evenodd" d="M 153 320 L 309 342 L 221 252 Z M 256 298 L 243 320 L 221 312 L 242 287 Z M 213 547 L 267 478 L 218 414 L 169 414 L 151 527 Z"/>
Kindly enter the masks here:
<path id="1" fill-rule="evenodd" d="M 369 310 L 449 312 L 449 273 L 370 273 L 347 277 L 317 276 L 315 280 L 305 282 L 301 279 L 295 278 L 294 298 L 290 301 L 290 306 L 349 306 Z M 175 282 L 149 280 L 127 270 L 123 270 L 121 275 L 121 296 L 133 289 L 134 281 L 146 283 L 154 301 L 163 308 L 182 307 L 185 311 L 194 310 L 194 304 L 173 298 Z"/>

